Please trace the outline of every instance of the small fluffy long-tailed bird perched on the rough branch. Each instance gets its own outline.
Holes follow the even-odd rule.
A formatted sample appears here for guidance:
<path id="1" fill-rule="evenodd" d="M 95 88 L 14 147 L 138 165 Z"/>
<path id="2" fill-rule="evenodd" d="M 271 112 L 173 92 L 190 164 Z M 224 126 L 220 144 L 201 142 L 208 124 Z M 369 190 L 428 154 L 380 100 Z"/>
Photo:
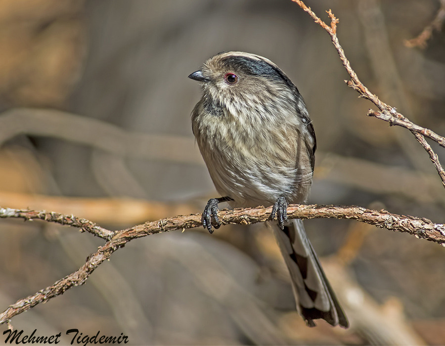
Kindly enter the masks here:
<path id="1" fill-rule="evenodd" d="M 316 149 L 297 87 L 269 59 L 241 51 L 216 54 L 188 78 L 202 91 L 191 113 L 193 134 L 221 195 L 208 201 L 204 228 L 212 233 L 221 225 L 221 202 L 273 206 L 268 223 L 289 269 L 297 311 L 310 327 L 324 319 L 348 328 L 303 221 L 287 217 L 288 204 L 307 202 Z"/>

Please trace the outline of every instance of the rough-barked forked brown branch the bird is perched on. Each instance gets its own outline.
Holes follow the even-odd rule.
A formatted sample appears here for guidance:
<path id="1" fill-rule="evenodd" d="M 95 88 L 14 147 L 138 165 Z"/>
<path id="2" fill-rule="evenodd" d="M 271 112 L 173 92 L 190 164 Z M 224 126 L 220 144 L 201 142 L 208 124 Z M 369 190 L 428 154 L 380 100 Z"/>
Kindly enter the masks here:
<path id="1" fill-rule="evenodd" d="M 219 217 L 223 224 L 251 224 L 267 221 L 270 217 L 270 213 L 271 207 L 247 208 L 235 209 L 233 211 L 223 210 L 219 213 Z M 101 228 L 86 219 L 45 211 L 0 208 L 0 217 L 24 218 L 25 220 L 41 219 L 48 222 L 72 225 L 81 227 L 82 230 L 107 240 L 105 245 L 99 247 L 94 254 L 90 255 L 86 263 L 74 273 L 64 277 L 36 294 L 20 299 L 16 303 L 10 305 L 5 311 L 0 313 L 0 324 L 8 322 L 13 316 L 24 312 L 39 303 L 44 303 L 51 298 L 63 294 L 73 286 L 84 284 L 89 275 L 105 259 L 110 258 L 113 252 L 124 247 L 126 243 L 135 238 L 202 225 L 200 214 L 164 218 L 115 232 Z M 376 225 L 377 227 L 406 232 L 417 238 L 427 239 L 442 245 L 445 244 L 444 224 L 434 223 L 426 218 L 391 214 L 385 210 L 378 212 L 356 206 L 290 205 L 288 207 L 288 217 L 303 219 L 321 217 L 356 219 L 361 222 Z"/>

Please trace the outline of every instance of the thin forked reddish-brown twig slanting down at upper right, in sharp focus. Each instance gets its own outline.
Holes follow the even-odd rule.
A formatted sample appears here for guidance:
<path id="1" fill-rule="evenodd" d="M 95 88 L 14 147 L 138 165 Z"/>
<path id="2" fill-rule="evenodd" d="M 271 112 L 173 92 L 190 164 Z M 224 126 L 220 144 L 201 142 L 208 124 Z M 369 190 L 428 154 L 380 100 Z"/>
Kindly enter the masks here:
<path id="1" fill-rule="evenodd" d="M 305 12 L 307 12 L 312 19 L 315 21 L 315 23 L 319 24 L 324 30 L 326 30 L 331 37 L 331 41 L 335 46 L 335 49 L 337 50 L 340 60 L 343 63 L 343 66 L 345 67 L 346 71 L 351 77 L 351 80 L 345 81 L 346 84 L 349 87 L 352 87 L 354 90 L 356 90 L 360 97 L 366 98 L 370 100 L 372 103 L 374 103 L 378 109 L 380 110 L 379 113 L 377 112 L 368 112 L 369 116 L 375 116 L 375 114 L 379 114 L 379 119 L 382 119 L 384 121 L 387 121 L 390 123 L 390 125 L 397 125 L 401 126 L 405 129 L 410 130 L 416 139 L 419 141 L 419 143 L 422 145 L 422 147 L 427 151 L 429 154 L 430 160 L 433 162 L 434 167 L 438 171 L 439 176 L 441 177 L 442 184 L 445 187 L 445 171 L 442 168 L 437 155 L 433 152 L 430 145 L 425 140 L 421 140 L 421 138 L 417 134 L 421 134 L 423 136 L 426 136 L 428 138 L 433 139 L 437 143 L 439 143 L 441 146 L 445 148 L 445 138 L 438 135 L 437 133 L 433 132 L 432 130 L 422 128 L 416 124 L 413 124 L 410 122 L 407 118 L 405 118 L 402 114 L 397 112 L 396 108 L 391 107 L 390 105 L 382 102 L 379 100 L 377 95 L 373 94 L 369 91 L 367 87 L 363 85 L 363 83 L 360 82 L 358 79 L 358 76 L 356 72 L 352 69 L 351 64 L 349 60 L 347 59 L 345 52 L 338 42 L 337 38 L 337 24 L 339 20 L 335 17 L 335 15 L 332 13 L 331 10 L 326 11 L 329 18 L 331 19 L 330 26 L 324 23 L 312 10 L 310 7 L 306 6 L 305 3 L 301 0 L 292 0 L 293 2 L 296 2 Z"/>

